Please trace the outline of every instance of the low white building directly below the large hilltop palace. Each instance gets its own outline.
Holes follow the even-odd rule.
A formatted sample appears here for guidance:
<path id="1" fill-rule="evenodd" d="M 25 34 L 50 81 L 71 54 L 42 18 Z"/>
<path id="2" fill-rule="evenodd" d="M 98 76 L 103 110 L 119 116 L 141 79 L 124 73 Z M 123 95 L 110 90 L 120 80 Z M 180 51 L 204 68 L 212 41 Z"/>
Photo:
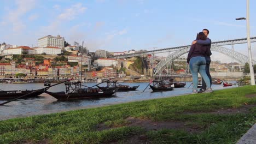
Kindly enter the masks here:
<path id="1" fill-rule="evenodd" d="M 58 55 L 61 54 L 61 48 L 56 46 L 46 46 L 46 47 L 35 47 L 36 53 L 41 55 L 46 53 L 46 55 Z"/>

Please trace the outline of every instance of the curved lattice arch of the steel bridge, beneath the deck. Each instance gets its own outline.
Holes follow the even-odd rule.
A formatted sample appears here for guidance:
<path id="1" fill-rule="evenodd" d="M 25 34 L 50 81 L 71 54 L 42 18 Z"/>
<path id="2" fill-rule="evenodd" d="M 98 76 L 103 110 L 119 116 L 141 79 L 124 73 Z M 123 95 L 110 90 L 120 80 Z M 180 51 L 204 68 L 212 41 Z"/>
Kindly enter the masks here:
<path id="1" fill-rule="evenodd" d="M 190 49 L 190 46 L 184 47 L 183 49 L 177 50 L 171 54 L 169 54 L 166 59 L 162 60 L 158 64 L 156 64 L 154 68 L 154 76 L 162 71 L 162 69 L 166 68 L 167 63 L 171 63 L 174 61 L 174 59 L 177 59 L 178 57 L 184 55 L 185 53 L 188 53 Z M 228 49 L 223 46 L 219 46 L 217 44 L 211 46 L 211 51 L 216 51 L 223 53 L 226 56 L 229 56 L 231 58 L 236 59 L 238 62 L 241 62 L 245 64 L 246 62 L 249 62 L 249 58 L 246 55 L 243 55 L 240 52 L 233 51 L 231 49 Z M 253 60 L 253 63 L 256 64 L 256 61 Z"/>

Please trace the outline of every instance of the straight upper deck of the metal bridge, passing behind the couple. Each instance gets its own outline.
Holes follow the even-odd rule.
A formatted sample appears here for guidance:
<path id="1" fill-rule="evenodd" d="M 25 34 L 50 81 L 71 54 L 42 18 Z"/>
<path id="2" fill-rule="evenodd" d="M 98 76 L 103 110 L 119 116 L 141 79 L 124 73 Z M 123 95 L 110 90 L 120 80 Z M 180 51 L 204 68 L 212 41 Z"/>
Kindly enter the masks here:
<path id="1" fill-rule="evenodd" d="M 251 43 L 255 43 L 255 42 L 256 42 L 256 37 L 252 37 Z M 247 38 L 215 41 L 215 42 L 212 42 L 212 46 L 214 46 L 214 45 L 215 46 L 224 46 L 224 45 L 235 45 L 235 44 L 245 44 L 245 43 L 247 43 Z M 173 52 L 173 51 L 177 51 L 177 50 L 186 49 L 187 47 L 190 47 L 190 45 L 169 47 L 169 48 L 165 48 L 165 49 L 158 49 L 158 50 L 152 50 L 152 51 L 146 51 L 146 52 L 137 52 L 137 53 L 131 53 L 131 54 L 127 54 L 127 55 L 112 56 L 109 58 L 126 58 L 126 57 L 143 56 L 143 55 L 148 55 L 148 54 L 152 54 L 152 53 Z"/>

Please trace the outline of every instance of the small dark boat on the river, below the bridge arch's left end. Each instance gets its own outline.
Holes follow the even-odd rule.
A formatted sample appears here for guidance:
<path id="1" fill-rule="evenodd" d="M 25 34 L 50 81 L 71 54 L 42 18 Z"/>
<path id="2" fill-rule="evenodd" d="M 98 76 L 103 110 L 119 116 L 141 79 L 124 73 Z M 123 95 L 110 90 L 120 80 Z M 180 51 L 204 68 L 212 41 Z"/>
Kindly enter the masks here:
<path id="1" fill-rule="evenodd" d="M 171 80 L 155 80 L 153 86 L 149 85 L 153 92 L 172 91 L 174 88 L 173 79 Z"/>

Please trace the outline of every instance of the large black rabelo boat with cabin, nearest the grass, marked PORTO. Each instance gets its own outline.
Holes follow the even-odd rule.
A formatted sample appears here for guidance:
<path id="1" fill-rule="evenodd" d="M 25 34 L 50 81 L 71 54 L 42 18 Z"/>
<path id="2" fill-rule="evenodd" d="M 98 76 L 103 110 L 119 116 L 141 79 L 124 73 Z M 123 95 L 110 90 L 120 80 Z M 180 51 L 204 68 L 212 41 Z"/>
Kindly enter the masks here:
<path id="1" fill-rule="evenodd" d="M 99 88 L 81 88 L 80 81 L 65 82 L 66 92 L 49 92 L 45 91 L 49 95 L 53 96 L 57 100 L 72 100 L 72 99 L 93 99 L 100 97 L 111 97 L 118 88 L 109 89 L 108 91 L 102 91 Z"/>

